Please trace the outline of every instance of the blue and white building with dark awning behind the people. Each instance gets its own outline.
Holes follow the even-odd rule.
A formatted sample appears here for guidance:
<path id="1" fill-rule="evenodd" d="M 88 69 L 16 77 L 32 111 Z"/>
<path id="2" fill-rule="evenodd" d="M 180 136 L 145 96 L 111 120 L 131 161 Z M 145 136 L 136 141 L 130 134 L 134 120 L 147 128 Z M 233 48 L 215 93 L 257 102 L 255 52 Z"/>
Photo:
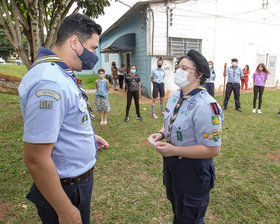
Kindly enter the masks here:
<path id="1" fill-rule="evenodd" d="M 116 9 L 117 10 L 117 9 Z M 190 49 L 214 62 L 216 89 L 223 87 L 224 63 L 239 60 L 250 66 L 251 76 L 258 63 L 271 74 L 267 86 L 279 85 L 280 61 L 279 0 L 169 0 L 136 3 L 100 37 L 99 62 L 94 68 L 111 73 L 117 67 L 137 66 L 142 94 L 151 97 L 150 73 L 162 57 L 167 73 L 167 93 L 177 87 L 173 75 L 177 59 Z"/>

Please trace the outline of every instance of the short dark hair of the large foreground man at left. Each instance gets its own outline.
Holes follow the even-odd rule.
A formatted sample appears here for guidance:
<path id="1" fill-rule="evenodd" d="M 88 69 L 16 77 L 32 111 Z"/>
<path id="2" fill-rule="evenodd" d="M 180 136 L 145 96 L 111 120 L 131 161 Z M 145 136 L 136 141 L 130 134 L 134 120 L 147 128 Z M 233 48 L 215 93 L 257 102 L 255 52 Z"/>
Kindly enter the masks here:
<path id="1" fill-rule="evenodd" d="M 69 37 L 77 35 L 82 43 L 85 43 L 92 34 L 100 35 L 102 28 L 86 15 L 74 13 L 67 16 L 57 32 L 56 45 L 63 44 Z"/>

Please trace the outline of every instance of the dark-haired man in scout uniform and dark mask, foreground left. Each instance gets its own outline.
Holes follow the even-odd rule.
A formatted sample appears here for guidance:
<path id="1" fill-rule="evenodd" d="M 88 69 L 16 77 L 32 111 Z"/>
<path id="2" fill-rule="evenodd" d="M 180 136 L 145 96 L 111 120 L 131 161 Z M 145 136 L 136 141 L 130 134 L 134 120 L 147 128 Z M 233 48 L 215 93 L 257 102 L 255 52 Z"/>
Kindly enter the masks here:
<path id="1" fill-rule="evenodd" d="M 101 26 L 72 14 L 52 50 L 41 47 L 19 85 L 24 162 L 34 184 L 27 198 L 43 223 L 90 223 L 93 166 L 108 143 L 94 134 L 92 110 L 73 70 L 97 62 Z"/>

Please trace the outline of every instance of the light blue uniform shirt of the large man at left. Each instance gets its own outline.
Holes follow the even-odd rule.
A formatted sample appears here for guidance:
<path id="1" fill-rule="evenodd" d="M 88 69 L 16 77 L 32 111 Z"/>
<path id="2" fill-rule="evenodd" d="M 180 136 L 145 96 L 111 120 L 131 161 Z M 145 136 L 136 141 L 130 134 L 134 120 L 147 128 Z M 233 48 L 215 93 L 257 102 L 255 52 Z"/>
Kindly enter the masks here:
<path id="1" fill-rule="evenodd" d="M 86 102 L 57 64 L 33 67 L 19 88 L 24 121 L 23 141 L 55 143 L 51 157 L 60 178 L 76 177 L 96 162 L 94 131 Z"/>

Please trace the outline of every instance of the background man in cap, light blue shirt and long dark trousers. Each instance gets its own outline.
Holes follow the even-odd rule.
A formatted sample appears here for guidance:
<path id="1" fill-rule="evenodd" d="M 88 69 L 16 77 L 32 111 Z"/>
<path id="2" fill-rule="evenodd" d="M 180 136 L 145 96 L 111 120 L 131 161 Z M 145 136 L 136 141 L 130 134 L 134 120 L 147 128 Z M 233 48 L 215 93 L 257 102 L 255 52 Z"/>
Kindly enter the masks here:
<path id="1" fill-rule="evenodd" d="M 226 86 L 226 96 L 224 102 L 224 110 L 227 109 L 228 101 L 233 90 L 235 109 L 242 112 L 240 106 L 240 78 L 244 79 L 242 69 L 238 67 L 238 60 L 236 58 L 231 59 L 231 67 L 227 68 L 225 77 L 228 76 L 227 86 Z"/>

